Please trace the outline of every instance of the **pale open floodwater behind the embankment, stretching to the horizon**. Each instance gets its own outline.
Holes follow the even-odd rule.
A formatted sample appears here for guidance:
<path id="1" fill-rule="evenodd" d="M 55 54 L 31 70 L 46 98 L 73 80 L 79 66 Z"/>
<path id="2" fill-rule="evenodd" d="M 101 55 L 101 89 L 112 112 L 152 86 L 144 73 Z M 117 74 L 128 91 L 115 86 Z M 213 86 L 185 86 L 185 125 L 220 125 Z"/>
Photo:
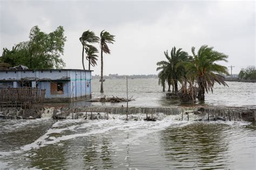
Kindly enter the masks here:
<path id="1" fill-rule="evenodd" d="M 256 83 L 244 82 L 226 82 L 229 87 L 214 85 L 213 94 L 208 93 L 205 96 L 205 104 L 243 106 L 256 105 Z M 158 85 L 158 79 L 129 79 L 129 97 L 133 96 L 136 101 L 129 102 L 133 106 L 144 107 L 169 107 L 170 105 L 179 105 L 179 99 L 166 99 L 165 92 Z M 180 87 L 179 87 L 180 88 Z M 105 93 L 101 94 L 100 82 L 98 79 L 92 80 L 92 97 L 100 96 L 118 96 L 126 97 L 125 79 L 106 79 L 104 82 Z M 93 105 L 122 105 L 120 103 L 92 103 Z"/>

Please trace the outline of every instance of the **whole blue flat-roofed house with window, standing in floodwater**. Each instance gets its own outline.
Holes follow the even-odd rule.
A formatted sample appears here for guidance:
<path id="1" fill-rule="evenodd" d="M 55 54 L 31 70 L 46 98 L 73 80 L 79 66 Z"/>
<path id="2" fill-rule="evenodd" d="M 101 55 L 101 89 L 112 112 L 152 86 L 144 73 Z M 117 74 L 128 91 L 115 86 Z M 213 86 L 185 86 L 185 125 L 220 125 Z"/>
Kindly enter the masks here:
<path id="1" fill-rule="evenodd" d="M 69 102 L 91 97 L 91 70 L 0 70 L 1 87 L 46 89 L 45 101 Z"/>

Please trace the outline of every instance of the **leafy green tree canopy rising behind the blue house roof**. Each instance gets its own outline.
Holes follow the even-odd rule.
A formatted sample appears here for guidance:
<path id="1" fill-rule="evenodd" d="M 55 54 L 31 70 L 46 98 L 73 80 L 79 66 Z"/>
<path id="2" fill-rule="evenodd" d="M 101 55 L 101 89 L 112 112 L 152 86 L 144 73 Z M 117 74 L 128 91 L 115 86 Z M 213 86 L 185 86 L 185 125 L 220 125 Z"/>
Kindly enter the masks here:
<path id="1" fill-rule="evenodd" d="M 30 69 L 63 68 L 65 62 L 60 56 L 64 53 L 65 41 L 63 26 L 50 33 L 34 26 L 30 30 L 29 41 L 19 42 L 11 50 L 3 48 L 0 62 L 11 67 L 24 65 Z"/>

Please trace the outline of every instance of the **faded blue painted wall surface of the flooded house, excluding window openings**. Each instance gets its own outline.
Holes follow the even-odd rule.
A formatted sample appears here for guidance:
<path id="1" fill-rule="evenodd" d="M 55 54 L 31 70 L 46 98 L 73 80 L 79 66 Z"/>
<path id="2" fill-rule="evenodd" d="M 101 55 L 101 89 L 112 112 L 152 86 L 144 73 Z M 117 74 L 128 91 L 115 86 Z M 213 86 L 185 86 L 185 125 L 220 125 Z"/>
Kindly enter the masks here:
<path id="1" fill-rule="evenodd" d="M 0 87 L 14 87 L 14 84 L 19 87 L 17 81 L 28 77 L 36 79 L 36 82 L 32 80 L 34 86 L 37 84 L 38 88 L 46 89 L 45 98 L 72 98 L 74 96 L 79 99 L 91 95 L 91 71 L 88 70 L 0 70 Z M 6 80 L 12 82 L 4 82 Z M 51 81 L 63 82 L 63 94 L 51 94 Z"/>

